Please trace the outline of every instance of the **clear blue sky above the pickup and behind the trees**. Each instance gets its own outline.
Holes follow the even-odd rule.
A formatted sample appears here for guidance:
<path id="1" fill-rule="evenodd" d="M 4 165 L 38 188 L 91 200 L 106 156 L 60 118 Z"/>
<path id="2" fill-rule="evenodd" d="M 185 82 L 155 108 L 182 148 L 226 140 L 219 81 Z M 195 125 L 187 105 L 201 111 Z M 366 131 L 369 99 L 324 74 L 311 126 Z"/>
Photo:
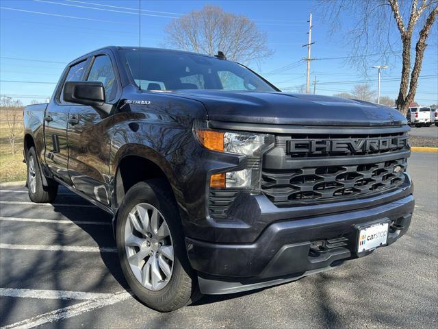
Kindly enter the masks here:
<path id="1" fill-rule="evenodd" d="M 0 93 L 29 103 L 50 97 L 60 73 L 70 60 L 107 45 L 138 45 L 138 0 L 1 0 Z M 274 51 L 255 71 L 281 89 L 294 90 L 305 84 L 305 62 L 289 65 L 307 56 L 309 12 L 315 1 L 149 1 L 142 0 L 142 45 L 159 47 L 164 27 L 173 18 L 205 4 L 244 14 L 268 35 Z M 96 8 L 96 9 L 93 9 Z M 348 19 L 346 19 L 348 23 Z M 365 80 L 359 68 L 346 66 L 348 46 L 340 38 L 329 38 L 318 13 L 313 15 L 311 80 L 316 75 L 316 90 L 321 95 L 350 92 Z M 394 27 L 395 28 L 395 27 Z M 437 23 L 428 40 L 423 70 L 415 100 L 422 105 L 438 103 Z M 397 36 L 396 36 L 397 37 Z M 378 49 L 376 49 L 378 52 Z M 374 64 L 387 64 L 376 62 Z M 287 66 L 289 65 L 289 66 Z M 283 66 L 286 69 L 277 70 Z M 383 71 L 381 95 L 395 98 L 398 93 L 400 60 Z M 376 89 L 376 70 L 368 79 Z M 44 83 L 42 83 L 44 82 Z"/>

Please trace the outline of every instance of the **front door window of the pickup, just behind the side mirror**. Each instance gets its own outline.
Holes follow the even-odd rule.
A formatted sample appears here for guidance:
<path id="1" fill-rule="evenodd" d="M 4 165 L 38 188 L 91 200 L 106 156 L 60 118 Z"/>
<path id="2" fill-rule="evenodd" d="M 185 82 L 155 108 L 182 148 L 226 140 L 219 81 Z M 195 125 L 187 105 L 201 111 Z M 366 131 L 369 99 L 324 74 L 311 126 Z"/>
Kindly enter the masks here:
<path id="1" fill-rule="evenodd" d="M 87 81 L 102 82 L 103 88 L 105 88 L 106 101 L 112 101 L 116 97 L 116 74 L 114 73 L 110 57 L 102 55 L 94 59 Z"/>

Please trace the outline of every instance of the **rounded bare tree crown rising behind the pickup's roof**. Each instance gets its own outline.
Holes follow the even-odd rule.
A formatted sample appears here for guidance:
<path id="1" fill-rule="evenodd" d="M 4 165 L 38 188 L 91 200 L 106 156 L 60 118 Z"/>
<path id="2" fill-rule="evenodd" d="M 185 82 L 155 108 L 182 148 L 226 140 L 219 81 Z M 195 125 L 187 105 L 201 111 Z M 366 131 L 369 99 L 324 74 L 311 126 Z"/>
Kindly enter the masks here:
<path id="1" fill-rule="evenodd" d="M 174 19 L 165 31 L 165 46 L 216 55 L 222 51 L 237 62 L 256 62 L 272 54 L 266 46 L 266 33 L 257 29 L 246 16 L 224 12 L 214 5 L 205 5 Z"/>

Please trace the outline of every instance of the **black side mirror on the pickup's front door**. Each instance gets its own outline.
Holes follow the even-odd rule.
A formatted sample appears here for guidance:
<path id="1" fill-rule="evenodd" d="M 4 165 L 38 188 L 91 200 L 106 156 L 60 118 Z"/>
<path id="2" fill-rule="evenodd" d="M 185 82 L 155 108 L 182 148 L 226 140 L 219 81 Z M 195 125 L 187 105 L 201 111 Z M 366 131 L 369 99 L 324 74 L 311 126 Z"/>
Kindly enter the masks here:
<path id="1" fill-rule="evenodd" d="M 64 101 L 92 106 L 98 112 L 110 114 L 110 107 L 105 104 L 105 88 L 102 82 L 66 82 L 63 98 Z"/>

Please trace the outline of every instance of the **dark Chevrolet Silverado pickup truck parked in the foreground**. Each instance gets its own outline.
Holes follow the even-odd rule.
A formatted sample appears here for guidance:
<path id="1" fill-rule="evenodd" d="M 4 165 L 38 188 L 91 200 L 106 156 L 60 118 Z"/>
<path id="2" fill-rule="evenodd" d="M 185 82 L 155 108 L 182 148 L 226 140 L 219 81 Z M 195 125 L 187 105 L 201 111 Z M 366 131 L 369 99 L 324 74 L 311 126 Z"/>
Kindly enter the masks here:
<path id="1" fill-rule="evenodd" d="M 222 53 L 92 51 L 24 125 L 30 199 L 61 185 L 109 212 L 129 287 L 160 311 L 332 269 L 411 223 L 402 114 L 283 93 Z"/>

